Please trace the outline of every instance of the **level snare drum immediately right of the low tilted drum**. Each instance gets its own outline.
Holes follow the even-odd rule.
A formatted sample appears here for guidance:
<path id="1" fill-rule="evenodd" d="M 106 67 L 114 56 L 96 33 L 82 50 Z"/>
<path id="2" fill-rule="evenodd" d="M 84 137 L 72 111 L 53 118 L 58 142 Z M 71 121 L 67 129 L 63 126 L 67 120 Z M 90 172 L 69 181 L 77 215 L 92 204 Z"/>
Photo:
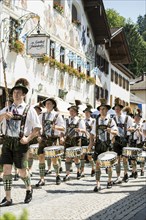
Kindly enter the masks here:
<path id="1" fill-rule="evenodd" d="M 136 147 L 123 147 L 122 155 L 125 157 L 137 157 L 142 151 L 141 148 Z"/>

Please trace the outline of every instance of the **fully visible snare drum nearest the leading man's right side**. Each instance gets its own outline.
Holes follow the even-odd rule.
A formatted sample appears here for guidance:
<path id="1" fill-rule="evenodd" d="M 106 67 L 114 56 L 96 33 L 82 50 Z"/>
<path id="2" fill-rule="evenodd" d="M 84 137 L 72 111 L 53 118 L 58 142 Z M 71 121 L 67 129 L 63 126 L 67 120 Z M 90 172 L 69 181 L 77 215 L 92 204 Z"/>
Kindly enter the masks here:
<path id="1" fill-rule="evenodd" d="M 64 154 L 64 146 L 50 146 L 44 148 L 45 157 L 55 158 Z"/>

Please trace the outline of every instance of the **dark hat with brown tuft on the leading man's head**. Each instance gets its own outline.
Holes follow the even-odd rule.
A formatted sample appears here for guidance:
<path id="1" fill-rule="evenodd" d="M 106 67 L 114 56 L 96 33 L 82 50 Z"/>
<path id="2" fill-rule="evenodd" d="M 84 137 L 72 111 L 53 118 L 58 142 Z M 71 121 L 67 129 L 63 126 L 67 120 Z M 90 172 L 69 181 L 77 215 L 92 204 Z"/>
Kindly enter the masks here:
<path id="1" fill-rule="evenodd" d="M 14 87 L 11 89 L 11 93 L 13 93 L 14 89 L 22 89 L 23 93 L 28 93 L 29 82 L 25 78 L 20 78 L 15 82 Z"/>

